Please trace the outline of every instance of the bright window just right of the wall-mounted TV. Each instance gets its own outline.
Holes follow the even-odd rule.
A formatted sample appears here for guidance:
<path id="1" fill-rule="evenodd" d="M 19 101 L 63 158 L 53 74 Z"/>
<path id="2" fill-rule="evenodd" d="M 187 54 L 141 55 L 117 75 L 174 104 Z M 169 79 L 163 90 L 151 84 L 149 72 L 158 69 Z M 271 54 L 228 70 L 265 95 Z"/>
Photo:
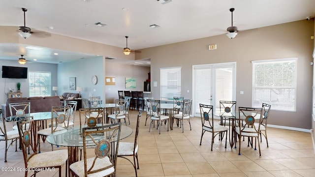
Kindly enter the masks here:
<path id="1" fill-rule="evenodd" d="M 50 72 L 29 72 L 29 95 L 51 96 L 51 73 Z"/>

